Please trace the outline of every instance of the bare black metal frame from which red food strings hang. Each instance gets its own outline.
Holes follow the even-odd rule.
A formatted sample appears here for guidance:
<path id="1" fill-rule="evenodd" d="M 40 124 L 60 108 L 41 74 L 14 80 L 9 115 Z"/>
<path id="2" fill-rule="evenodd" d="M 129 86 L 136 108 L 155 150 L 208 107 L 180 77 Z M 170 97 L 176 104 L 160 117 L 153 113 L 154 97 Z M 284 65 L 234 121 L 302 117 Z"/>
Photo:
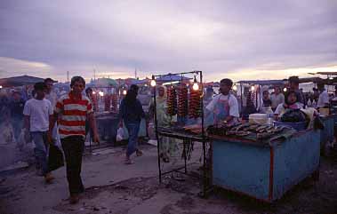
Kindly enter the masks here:
<path id="1" fill-rule="evenodd" d="M 199 80 L 200 80 L 200 85 L 201 85 L 201 99 L 204 97 L 204 86 L 203 86 L 203 72 L 202 71 L 190 71 L 190 72 L 181 72 L 181 73 L 169 73 L 166 75 L 152 75 L 152 80 L 155 80 L 156 77 L 162 77 L 162 76 L 170 76 L 170 75 L 199 75 Z M 188 170 L 187 170 L 187 153 L 186 153 L 186 144 L 187 142 L 191 141 L 196 141 L 196 142 L 201 142 L 203 144 L 203 190 L 202 190 L 202 197 L 206 197 L 207 193 L 207 172 L 206 172 L 206 143 L 209 141 L 206 136 L 205 136 L 205 118 L 204 118 L 204 103 L 203 101 L 200 102 L 200 108 L 201 108 L 201 129 L 202 133 L 201 136 L 196 136 L 193 134 L 182 134 L 178 132 L 172 132 L 172 131 L 165 131 L 164 129 L 158 129 L 158 123 L 157 123 L 157 116 L 156 116 L 156 85 L 153 86 L 153 99 L 154 99 L 154 115 L 155 115 L 155 132 L 156 132 L 156 139 L 157 139 L 157 161 L 158 161 L 158 171 L 159 171 L 159 183 L 162 183 L 162 176 L 168 173 L 172 172 L 178 172 L 178 173 L 183 173 L 188 175 Z M 169 170 L 166 172 L 162 171 L 161 168 L 161 160 L 160 160 L 160 138 L 159 136 L 164 136 L 164 137 L 169 137 L 173 139 L 182 139 L 183 141 L 183 147 L 184 147 L 184 162 L 185 165 L 184 167 L 180 167 L 178 169 L 173 169 Z M 212 147 L 212 146 L 211 146 Z M 212 160 L 210 160 L 212 162 Z M 211 163 L 212 164 L 212 163 Z M 184 171 L 181 171 L 184 170 Z"/>

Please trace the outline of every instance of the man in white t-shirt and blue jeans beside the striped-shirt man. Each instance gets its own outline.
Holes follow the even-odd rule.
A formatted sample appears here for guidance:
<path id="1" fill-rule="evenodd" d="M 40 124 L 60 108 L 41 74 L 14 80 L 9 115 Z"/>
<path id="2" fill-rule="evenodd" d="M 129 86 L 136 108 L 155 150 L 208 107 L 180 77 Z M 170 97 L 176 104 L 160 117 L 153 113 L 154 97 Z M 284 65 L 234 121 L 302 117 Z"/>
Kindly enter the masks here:
<path id="1" fill-rule="evenodd" d="M 24 107 L 23 115 L 25 121 L 25 131 L 29 131 L 35 143 L 34 153 L 36 156 L 36 170 L 38 175 L 44 176 L 47 183 L 52 179 L 51 172 L 48 170 L 47 151 L 48 140 L 47 131 L 49 128 L 49 117 L 52 115 L 52 104 L 49 100 L 44 99 L 44 83 L 36 83 L 34 90 L 36 97 L 29 99 Z"/>

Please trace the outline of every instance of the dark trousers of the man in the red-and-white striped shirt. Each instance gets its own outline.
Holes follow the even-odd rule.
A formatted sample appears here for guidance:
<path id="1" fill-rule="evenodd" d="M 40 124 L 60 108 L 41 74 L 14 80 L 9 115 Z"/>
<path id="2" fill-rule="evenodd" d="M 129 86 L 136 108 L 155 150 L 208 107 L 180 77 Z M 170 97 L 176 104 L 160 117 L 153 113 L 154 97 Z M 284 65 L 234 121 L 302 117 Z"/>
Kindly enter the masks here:
<path id="1" fill-rule="evenodd" d="M 70 195 L 84 192 L 81 178 L 82 155 L 84 152 L 84 138 L 69 136 L 60 139 L 67 163 L 67 179 Z"/>

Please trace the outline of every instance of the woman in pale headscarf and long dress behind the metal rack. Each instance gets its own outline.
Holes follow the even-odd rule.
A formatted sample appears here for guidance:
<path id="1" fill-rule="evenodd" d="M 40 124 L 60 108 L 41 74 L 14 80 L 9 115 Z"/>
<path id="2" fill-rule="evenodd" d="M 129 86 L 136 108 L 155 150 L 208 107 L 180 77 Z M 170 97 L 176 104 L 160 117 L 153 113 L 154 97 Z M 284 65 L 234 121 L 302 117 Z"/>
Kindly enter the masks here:
<path id="1" fill-rule="evenodd" d="M 167 114 L 167 89 L 165 86 L 159 86 L 156 96 L 156 121 L 158 127 L 170 127 L 172 123 L 177 122 L 177 116 Z M 177 142 L 167 137 L 160 138 L 160 156 L 164 162 L 170 162 L 170 155 L 174 155 L 177 148 Z"/>

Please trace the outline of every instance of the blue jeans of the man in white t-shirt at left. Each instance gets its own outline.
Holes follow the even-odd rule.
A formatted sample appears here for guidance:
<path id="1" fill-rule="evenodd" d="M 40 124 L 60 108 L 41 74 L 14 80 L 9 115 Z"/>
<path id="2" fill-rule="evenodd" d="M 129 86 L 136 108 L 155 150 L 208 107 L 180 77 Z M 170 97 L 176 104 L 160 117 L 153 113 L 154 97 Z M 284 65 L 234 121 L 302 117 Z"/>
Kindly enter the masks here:
<path id="1" fill-rule="evenodd" d="M 34 154 L 37 169 L 42 168 L 43 175 L 46 175 L 49 172 L 47 131 L 31 131 L 30 134 L 35 143 Z"/>

